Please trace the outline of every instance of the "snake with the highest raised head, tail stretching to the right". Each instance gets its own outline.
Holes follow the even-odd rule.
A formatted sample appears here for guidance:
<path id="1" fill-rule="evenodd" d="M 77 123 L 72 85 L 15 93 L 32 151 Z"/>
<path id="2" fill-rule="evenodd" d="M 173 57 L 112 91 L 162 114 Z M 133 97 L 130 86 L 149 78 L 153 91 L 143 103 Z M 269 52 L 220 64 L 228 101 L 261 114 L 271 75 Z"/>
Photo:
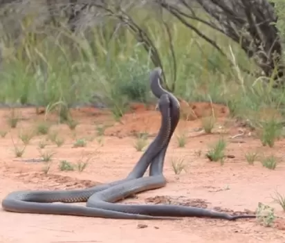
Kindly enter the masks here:
<path id="1" fill-rule="evenodd" d="M 160 85 L 160 75 L 162 70 L 160 67 L 154 69 L 151 72 L 151 90 L 157 98 L 165 100 L 168 96 L 170 101 L 170 114 L 172 116 L 172 125 L 170 127 L 170 134 L 167 138 L 167 144 L 178 124 L 180 117 L 180 105 L 177 98 L 170 92 L 166 91 Z M 158 104 L 158 108 L 161 110 L 162 105 Z M 113 204 L 113 202 L 118 201 L 116 197 L 112 197 L 116 191 L 120 191 L 122 195 L 128 197 L 129 195 L 134 195 L 138 192 L 142 192 L 147 188 L 147 190 L 156 189 L 158 185 L 165 186 L 166 179 L 163 176 L 163 161 L 165 158 L 165 152 L 167 147 L 163 147 L 163 150 L 156 156 L 154 161 L 151 162 L 149 177 L 141 177 L 136 179 L 133 186 L 129 186 L 128 183 L 120 183 L 119 185 L 108 188 L 107 190 L 102 190 L 100 192 L 94 193 L 89 197 L 86 206 L 94 208 L 102 208 L 107 210 L 116 210 L 117 212 L 123 213 L 133 213 L 134 215 L 151 215 L 151 216 L 169 216 L 169 217 L 211 217 L 216 219 L 228 219 L 235 220 L 241 218 L 253 218 L 255 215 L 229 215 L 227 213 L 221 213 L 216 210 L 210 210 L 208 208 L 198 208 L 191 206 L 180 206 L 180 205 L 128 205 L 126 204 Z"/>

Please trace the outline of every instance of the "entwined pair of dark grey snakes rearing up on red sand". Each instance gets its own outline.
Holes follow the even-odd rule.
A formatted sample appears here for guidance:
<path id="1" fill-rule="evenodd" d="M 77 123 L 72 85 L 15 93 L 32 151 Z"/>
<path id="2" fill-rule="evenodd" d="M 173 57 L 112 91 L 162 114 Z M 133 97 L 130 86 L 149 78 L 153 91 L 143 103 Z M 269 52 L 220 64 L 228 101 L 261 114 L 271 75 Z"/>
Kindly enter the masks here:
<path id="1" fill-rule="evenodd" d="M 116 219 L 175 219 L 173 217 L 213 217 L 234 220 L 255 215 L 228 215 L 205 208 L 176 205 L 127 205 L 113 204 L 134 193 L 165 186 L 163 162 L 167 147 L 176 129 L 180 116 L 179 102 L 160 86 L 161 69 L 151 71 L 151 90 L 159 99 L 158 107 L 162 116 L 161 127 L 154 141 L 149 145 L 134 169 L 126 179 L 82 190 L 19 191 L 10 193 L 2 201 L 2 208 L 17 213 L 44 213 L 77 215 L 86 217 L 107 217 Z M 143 177 L 150 165 L 149 177 Z M 84 206 L 51 204 L 85 202 Z"/>

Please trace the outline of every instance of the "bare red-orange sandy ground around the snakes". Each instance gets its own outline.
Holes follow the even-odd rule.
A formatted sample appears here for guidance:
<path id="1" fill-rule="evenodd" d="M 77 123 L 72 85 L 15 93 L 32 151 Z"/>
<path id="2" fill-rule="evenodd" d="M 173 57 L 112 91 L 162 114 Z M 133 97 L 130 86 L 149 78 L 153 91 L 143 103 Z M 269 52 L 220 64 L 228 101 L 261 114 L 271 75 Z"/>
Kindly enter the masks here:
<path id="1" fill-rule="evenodd" d="M 185 104 L 184 104 L 185 105 Z M 153 107 L 152 107 L 153 109 Z M 278 190 L 285 195 L 284 187 L 284 146 L 285 140 L 278 141 L 272 149 L 262 147 L 257 138 L 227 118 L 228 110 L 215 105 L 214 112 L 218 118 L 214 134 L 203 134 L 201 116 L 211 114 L 212 107 L 206 103 L 186 104 L 183 114 L 188 121 L 181 120 L 176 134 L 187 134 L 187 145 L 177 147 L 174 136 L 167 152 L 165 176 L 167 186 L 138 195 L 135 201 L 140 203 L 169 203 L 222 210 L 255 210 L 258 202 L 275 208 L 279 218 L 273 227 L 264 227 L 255 219 L 226 222 L 217 219 L 185 218 L 179 221 L 138 221 L 115 220 L 61 215 L 30 215 L 9 213 L 0 210 L 0 242 L 13 243 L 52 243 L 52 242 L 285 242 L 285 213 L 270 195 Z M 121 123 L 113 123 L 108 111 L 93 108 L 73 111 L 73 118 L 80 124 L 76 135 L 67 125 L 53 125 L 51 129 L 64 136 L 62 147 L 56 147 L 50 141 L 44 151 L 55 152 L 48 174 L 42 172 L 45 164 L 28 162 L 39 159 L 37 150 L 39 141 L 46 136 L 35 136 L 22 159 L 15 159 L 13 143 L 21 145 L 18 134 L 34 129 L 44 115 L 35 114 L 35 109 L 19 109 L 23 120 L 17 129 L 12 129 L 6 138 L 0 138 L 0 197 L 9 192 L 24 189 L 86 188 L 96 183 L 121 179 L 138 161 L 142 152 L 134 148 L 136 132 L 156 134 L 160 125 L 158 111 L 146 111 L 142 105 L 133 105 L 133 113 L 126 114 Z M 185 112 L 187 111 L 187 112 Z M 8 129 L 6 117 L 9 111 L 0 111 L 1 129 Z M 55 120 L 55 117 L 49 117 Z M 101 147 L 96 138 L 96 125 L 110 125 L 105 131 L 104 145 Z M 226 154 L 228 158 L 221 166 L 205 159 L 208 145 L 217 141 L 219 136 L 228 141 Z M 243 134 L 235 138 L 235 135 Z M 116 135 L 116 136 L 111 136 Z M 89 139 L 86 147 L 73 147 L 75 137 Z M 151 141 L 153 138 L 149 138 Z M 276 170 L 263 168 L 259 161 L 248 165 L 245 153 L 250 151 L 274 154 L 280 160 Z M 187 172 L 175 175 L 172 159 L 184 156 Z M 58 163 L 62 160 L 77 163 L 91 158 L 84 172 L 61 172 Z"/>

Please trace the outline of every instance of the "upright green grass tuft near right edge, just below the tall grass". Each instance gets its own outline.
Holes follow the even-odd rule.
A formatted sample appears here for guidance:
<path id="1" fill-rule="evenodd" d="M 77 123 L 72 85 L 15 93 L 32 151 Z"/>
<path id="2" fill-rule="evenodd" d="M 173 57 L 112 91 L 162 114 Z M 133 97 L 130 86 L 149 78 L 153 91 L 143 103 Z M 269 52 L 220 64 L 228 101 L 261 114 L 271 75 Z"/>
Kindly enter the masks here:
<path id="1" fill-rule="evenodd" d="M 275 119 L 268 120 L 261 123 L 260 140 L 262 145 L 273 147 L 275 141 L 280 138 L 282 134 L 282 123 Z"/>

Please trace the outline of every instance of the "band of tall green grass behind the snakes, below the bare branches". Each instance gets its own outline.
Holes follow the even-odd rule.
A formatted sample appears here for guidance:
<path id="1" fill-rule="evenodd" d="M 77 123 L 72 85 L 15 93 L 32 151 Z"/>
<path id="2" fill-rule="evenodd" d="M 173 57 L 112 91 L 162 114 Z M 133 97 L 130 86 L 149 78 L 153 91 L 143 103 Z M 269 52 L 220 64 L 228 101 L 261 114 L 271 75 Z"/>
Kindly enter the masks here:
<path id="1" fill-rule="evenodd" d="M 100 19 L 104 30 L 91 25 L 88 31 L 80 28 L 78 35 L 66 27 L 68 19 L 56 19 L 64 22 L 56 26 L 53 21 L 44 21 L 35 30 L 30 24 L 39 22 L 37 14 L 24 17 L 17 33 L 10 33 L 12 28 L 3 28 L 0 42 L 5 58 L 1 62 L 0 102 L 47 107 L 46 114 L 57 109 L 59 122 L 67 123 L 72 130 L 77 122 L 71 119 L 69 109 L 82 104 L 109 107 L 120 121 L 129 111 L 130 102 L 154 101 L 146 81 L 149 71 L 161 63 L 164 85 L 176 96 L 187 102 L 228 105 L 232 116 L 250 124 L 255 124 L 261 109 L 278 109 L 285 103 L 284 91 L 273 89 L 272 80 L 264 85 L 260 78 L 255 78 L 252 73 L 259 69 L 253 58 L 249 60 L 239 44 L 219 31 L 187 19 L 194 28 L 203 29 L 203 35 L 214 39 L 228 55 L 221 54 L 169 12 L 164 12 L 161 19 L 156 10 L 149 8 L 125 11 L 131 18 L 122 19 L 133 19 L 143 28 L 143 35 L 154 44 L 155 51 L 147 49 L 141 36 L 134 34 L 117 15 Z M 197 10 L 196 15 L 208 18 L 202 10 Z M 15 39 L 21 39 L 21 43 L 14 46 Z M 11 114 L 10 127 L 17 127 L 18 122 L 15 113 Z M 213 126 L 213 119 L 203 119 L 206 133 L 212 132 Z M 39 134 L 48 132 L 47 127 L 37 130 Z M 98 133 L 102 136 L 104 132 Z M 276 134 L 266 134 L 261 136 L 262 143 L 273 146 Z"/>

